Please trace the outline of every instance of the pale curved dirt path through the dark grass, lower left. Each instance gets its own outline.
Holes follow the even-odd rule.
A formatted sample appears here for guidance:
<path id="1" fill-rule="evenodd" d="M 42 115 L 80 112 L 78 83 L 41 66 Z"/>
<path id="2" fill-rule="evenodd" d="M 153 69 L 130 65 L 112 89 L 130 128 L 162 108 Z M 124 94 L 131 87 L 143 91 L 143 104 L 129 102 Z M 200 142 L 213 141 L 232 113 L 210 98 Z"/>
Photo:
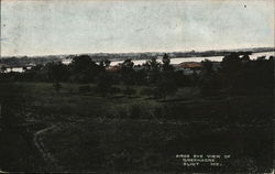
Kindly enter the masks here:
<path id="1" fill-rule="evenodd" d="M 48 152 L 48 150 L 45 148 L 43 141 L 42 141 L 42 134 L 47 132 L 47 131 L 52 131 L 56 128 L 56 124 L 53 124 L 51 127 L 47 127 L 45 129 L 42 129 L 37 132 L 34 133 L 33 137 L 33 142 L 34 145 L 37 148 L 37 150 L 40 151 L 40 153 L 42 154 L 42 157 L 45 160 L 45 162 L 47 162 L 48 164 L 51 164 L 51 166 L 53 167 L 58 167 L 56 160 L 54 159 L 54 156 Z"/>

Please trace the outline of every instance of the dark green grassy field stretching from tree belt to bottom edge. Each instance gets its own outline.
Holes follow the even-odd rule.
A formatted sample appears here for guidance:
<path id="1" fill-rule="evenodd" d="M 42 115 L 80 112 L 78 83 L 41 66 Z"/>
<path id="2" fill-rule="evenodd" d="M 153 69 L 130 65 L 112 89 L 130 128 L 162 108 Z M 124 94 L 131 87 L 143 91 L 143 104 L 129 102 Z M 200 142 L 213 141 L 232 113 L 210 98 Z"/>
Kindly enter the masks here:
<path id="1" fill-rule="evenodd" d="M 272 162 L 270 96 L 205 98 L 198 88 L 180 88 L 166 101 L 142 94 L 102 97 L 79 93 L 79 84 L 18 83 L 24 90 L 23 119 L 57 167 L 68 172 L 177 173 L 183 171 L 263 171 Z M 186 167 L 176 154 L 230 154 L 222 167 Z M 35 167 L 34 171 L 35 171 Z"/>

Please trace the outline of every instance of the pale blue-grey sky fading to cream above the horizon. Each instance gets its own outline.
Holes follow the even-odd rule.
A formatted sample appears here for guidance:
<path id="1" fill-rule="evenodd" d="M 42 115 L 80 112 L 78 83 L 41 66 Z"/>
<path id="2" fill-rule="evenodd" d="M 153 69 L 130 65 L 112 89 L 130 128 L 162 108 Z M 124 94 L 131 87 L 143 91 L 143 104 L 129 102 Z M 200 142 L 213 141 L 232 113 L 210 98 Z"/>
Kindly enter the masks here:
<path id="1" fill-rule="evenodd" d="M 1 0 L 1 56 L 274 47 L 274 0 Z"/>

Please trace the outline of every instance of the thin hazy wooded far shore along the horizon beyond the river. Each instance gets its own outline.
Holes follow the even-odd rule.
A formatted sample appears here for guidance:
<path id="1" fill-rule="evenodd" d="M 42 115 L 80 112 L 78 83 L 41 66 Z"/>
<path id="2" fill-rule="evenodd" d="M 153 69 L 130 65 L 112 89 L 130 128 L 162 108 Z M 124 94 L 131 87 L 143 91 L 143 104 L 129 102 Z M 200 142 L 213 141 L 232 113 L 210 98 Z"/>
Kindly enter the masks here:
<path id="1" fill-rule="evenodd" d="M 252 53 L 260 53 L 260 52 L 272 52 L 275 51 L 273 47 L 258 47 L 258 48 L 246 48 L 246 50 L 232 50 L 232 51 L 205 51 L 205 52 L 172 52 L 167 53 L 170 57 L 208 57 L 208 56 L 226 56 L 231 53 L 238 52 L 240 54 L 252 54 Z M 124 61 L 124 59 L 147 59 L 155 56 L 163 56 L 165 53 L 95 53 L 95 54 L 87 54 L 92 58 L 95 62 L 100 62 L 102 59 L 110 59 L 110 61 Z M 7 67 L 22 67 L 22 66 L 30 66 L 33 64 L 47 64 L 51 62 L 61 62 L 65 58 L 74 58 L 79 55 L 50 55 L 50 56 L 2 56 L 0 58 L 0 65 L 4 65 Z"/>

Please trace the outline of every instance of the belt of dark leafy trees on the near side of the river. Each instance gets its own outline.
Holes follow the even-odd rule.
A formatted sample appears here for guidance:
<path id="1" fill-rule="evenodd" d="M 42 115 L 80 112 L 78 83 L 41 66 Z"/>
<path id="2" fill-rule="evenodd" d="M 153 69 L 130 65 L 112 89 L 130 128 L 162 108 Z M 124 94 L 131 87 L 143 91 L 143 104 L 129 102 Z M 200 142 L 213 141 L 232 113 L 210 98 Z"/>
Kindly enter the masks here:
<path id="1" fill-rule="evenodd" d="M 0 80 L 6 81 L 50 81 L 58 91 L 59 83 L 97 84 L 98 93 L 103 96 L 117 91 L 113 85 L 150 86 L 148 96 L 165 98 L 180 87 L 200 87 L 205 96 L 221 94 L 272 94 L 273 91 L 274 57 L 250 59 L 248 53 L 231 53 L 223 57 L 220 67 L 213 68 L 211 61 L 202 61 L 199 73 L 194 70 L 185 75 L 175 70 L 170 57 L 164 54 L 162 63 L 151 57 L 143 65 L 134 66 L 132 59 L 125 59 L 118 67 L 110 67 L 110 61 L 99 63 L 89 55 L 74 56 L 69 65 L 47 63 L 36 65 L 24 73 L 2 73 Z M 88 90 L 88 87 L 87 87 Z M 129 89 L 129 93 L 134 93 Z"/>

